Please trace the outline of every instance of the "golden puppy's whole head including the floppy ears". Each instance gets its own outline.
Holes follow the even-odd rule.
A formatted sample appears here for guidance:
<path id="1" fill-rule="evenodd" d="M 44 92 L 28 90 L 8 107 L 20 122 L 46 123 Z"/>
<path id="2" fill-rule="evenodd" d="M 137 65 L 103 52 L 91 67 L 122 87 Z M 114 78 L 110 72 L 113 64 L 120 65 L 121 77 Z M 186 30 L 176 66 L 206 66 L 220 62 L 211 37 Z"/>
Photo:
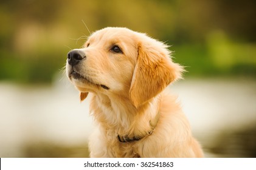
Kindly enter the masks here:
<path id="1" fill-rule="evenodd" d="M 82 49 L 68 54 L 66 72 L 80 90 L 130 98 L 139 107 L 181 77 L 162 42 L 125 28 L 108 27 L 93 33 Z"/>

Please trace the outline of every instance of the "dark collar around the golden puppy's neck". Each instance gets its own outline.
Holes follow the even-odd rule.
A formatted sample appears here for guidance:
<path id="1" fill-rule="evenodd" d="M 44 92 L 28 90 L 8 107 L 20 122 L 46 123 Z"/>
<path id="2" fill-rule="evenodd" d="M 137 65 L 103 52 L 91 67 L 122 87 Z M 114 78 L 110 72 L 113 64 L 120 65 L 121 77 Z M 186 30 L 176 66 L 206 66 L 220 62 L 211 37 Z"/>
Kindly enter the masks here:
<path id="1" fill-rule="evenodd" d="M 138 141 L 138 140 L 141 140 L 142 138 L 145 138 L 149 135 L 152 134 L 152 132 L 154 131 L 154 128 L 156 128 L 156 124 L 159 120 L 159 117 L 160 117 L 160 112 L 157 113 L 156 117 L 154 117 L 153 120 L 150 120 L 150 131 L 147 132 L 146 135 L 144 136 L 134 136 L 134 137 L 128 137 L 128 135 L 125 135 L 125 136 L 120 136 L 120 135 L 117 135 L 117 138 L 120 142 L 123 142 L 123 143 L 126 143 L 126 142 L 132 142 L 132 141 Z"/>

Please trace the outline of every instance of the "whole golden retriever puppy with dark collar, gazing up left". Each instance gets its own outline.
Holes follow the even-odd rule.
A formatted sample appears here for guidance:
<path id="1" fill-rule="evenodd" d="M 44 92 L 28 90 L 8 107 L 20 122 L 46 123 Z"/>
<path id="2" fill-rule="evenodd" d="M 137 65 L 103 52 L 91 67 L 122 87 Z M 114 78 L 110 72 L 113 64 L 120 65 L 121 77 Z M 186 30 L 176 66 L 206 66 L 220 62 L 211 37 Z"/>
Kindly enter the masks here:
<path id="1" fill-rule="evenodd" d="M 183 71 L 167 47 L 144 33 L 107 27 L 67 54 L 67 77 L 81 101 L 92 93 L 91 157 L 203 156 L 176 98 L 164 92 Z"/>

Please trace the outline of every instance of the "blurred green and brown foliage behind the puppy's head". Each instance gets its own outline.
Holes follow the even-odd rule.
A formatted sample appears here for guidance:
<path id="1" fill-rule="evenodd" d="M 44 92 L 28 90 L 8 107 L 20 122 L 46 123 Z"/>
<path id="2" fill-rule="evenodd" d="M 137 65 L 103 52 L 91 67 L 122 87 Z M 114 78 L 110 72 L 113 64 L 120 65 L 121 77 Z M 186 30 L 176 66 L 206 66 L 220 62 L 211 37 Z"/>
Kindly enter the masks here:
<path id="1" fill-rule="evenodd" d="M 0 80 L 50 83 L 89 30 L 108 26 L 172 45 L 188 77 L 255 77 L 255 6 L 254 0 L 3 0 Z"/>

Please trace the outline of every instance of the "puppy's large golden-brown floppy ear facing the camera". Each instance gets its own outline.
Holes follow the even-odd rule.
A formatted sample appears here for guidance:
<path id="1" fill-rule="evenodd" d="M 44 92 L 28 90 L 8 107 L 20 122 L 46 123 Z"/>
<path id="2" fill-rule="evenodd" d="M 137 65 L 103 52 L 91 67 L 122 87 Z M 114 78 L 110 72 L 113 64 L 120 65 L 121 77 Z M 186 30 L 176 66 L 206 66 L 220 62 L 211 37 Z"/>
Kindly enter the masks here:
<path id="1" fill-rule="evenodd" d="M 151 39 L 152 44 L 139 44 L 137 63 L 130 87 L 135 107 L 162 92 L 171 81 L 181 78 L 183 67 L 173 63 L 165 44 Z"/>

